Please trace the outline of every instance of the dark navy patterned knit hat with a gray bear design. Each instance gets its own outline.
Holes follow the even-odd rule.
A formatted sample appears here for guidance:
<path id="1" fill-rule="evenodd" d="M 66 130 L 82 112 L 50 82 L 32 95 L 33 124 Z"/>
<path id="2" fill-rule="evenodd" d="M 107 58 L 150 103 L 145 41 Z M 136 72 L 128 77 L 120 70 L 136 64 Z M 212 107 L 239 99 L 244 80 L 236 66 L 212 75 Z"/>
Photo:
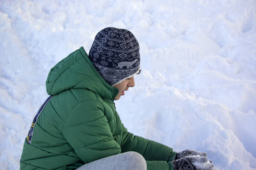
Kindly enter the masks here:
<path id="1" fill-rule="evenodd" d="M 126 29 L 108 27 L 97 33 L 89 58 L 111 86 L 139 72 L 139 43 Z"/>

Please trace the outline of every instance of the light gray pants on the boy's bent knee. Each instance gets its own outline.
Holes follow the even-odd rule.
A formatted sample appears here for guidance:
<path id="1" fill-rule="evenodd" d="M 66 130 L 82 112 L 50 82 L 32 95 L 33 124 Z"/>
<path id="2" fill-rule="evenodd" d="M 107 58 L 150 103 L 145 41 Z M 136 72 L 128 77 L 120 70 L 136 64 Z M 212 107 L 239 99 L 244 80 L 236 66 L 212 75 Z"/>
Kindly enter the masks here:
<path id="1" fill-rule="evenodd" d="M 146 170 L 147 164 L 146 164 L 146 160 L 143 158 L 141 154 L 138 154 L 137 152 L 125 152 L 123 154 L 118 154 L 118 155 L 98 159 L 77 168 L 77 170 L 85 170 L 85 169 L 88 169 L 88 170 L 97 170 L 97 169 Z"/>

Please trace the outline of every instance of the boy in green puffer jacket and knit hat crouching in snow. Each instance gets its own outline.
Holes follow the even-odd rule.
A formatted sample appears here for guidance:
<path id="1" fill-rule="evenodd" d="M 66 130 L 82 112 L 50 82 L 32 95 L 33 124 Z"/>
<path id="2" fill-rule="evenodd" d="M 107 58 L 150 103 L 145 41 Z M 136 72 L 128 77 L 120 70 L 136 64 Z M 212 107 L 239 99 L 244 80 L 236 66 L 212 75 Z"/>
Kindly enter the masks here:
<path id="1" fill-rule="evenodd" d="M 24 142 L 20 169 L 213 169 L 204 152 L 176 153 L 123 126 L 114 100 L 135 86 L 139 44 L 126 29 L 108 27 L 50 71 L 50 95 Z"/>

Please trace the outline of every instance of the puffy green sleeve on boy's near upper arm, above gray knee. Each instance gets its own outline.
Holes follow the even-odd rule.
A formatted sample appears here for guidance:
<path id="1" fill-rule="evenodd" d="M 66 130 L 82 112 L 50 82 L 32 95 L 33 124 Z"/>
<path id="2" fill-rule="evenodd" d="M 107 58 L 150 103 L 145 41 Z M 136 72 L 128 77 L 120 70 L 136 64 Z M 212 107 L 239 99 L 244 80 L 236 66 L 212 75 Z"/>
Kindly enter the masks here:
<path id="1" fill-rule="evenodd" d="M 121 153 L 98 101 L 77 104 L 65 121 L 63 135 L 84 163 Z"/>

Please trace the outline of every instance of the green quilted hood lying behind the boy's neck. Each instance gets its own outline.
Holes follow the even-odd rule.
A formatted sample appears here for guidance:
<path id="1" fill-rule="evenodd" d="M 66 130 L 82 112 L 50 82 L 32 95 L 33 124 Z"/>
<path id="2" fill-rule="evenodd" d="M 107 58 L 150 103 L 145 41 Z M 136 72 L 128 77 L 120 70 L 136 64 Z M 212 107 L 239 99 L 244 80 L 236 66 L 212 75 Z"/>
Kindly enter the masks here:
<path id="1" fill-rule="evenodd" d="M 118 94 L 118 89 L 110 86 L 98 73 L 83 47 L 49 71 L 46 80 L 48 95 L 56 95 L 69 88 L 84 88 L 112 101 Z"/>

